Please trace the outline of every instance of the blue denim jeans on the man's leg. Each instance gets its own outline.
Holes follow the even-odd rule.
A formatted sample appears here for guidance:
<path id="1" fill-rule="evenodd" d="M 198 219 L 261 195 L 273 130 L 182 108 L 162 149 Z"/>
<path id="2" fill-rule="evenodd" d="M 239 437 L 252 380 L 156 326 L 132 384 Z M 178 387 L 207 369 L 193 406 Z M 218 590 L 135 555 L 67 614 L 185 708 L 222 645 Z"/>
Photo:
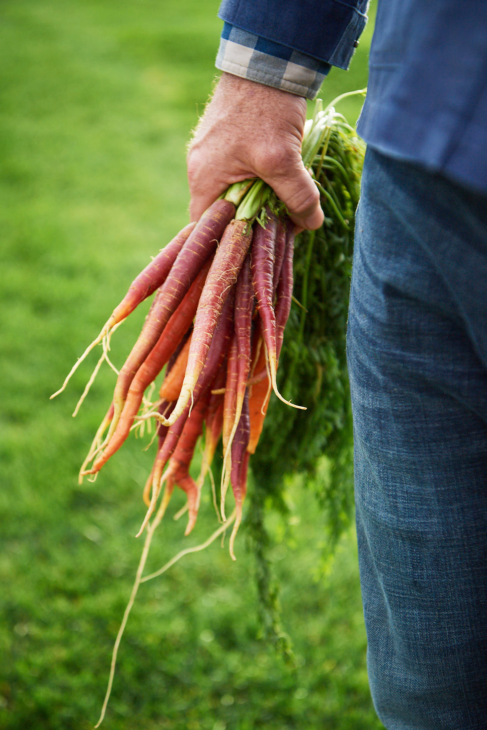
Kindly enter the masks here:
<path id="1" fill-rule="evenodd" d="M 487 196 L 368 150 L 348 366 L 372 700 L 487 727 Z"/>

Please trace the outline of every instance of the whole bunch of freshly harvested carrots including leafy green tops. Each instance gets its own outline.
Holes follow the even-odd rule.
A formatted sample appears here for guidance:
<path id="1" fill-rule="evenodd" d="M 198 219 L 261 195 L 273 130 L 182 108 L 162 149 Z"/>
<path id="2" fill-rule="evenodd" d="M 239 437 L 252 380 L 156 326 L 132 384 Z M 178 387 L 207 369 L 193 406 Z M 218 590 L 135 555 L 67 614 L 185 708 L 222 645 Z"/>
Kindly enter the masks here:
<path id="1" fill-rule="evenodd" d="M 175 487 L 186 495 L 185 534 L 189 534 L 222 439 L 219 511 L 223 525 L 207 542 L 232 523 L 229 552 L 235 559 L 250 456 L 254 478 L 263 483 L 261 493 L 278 502 L 285 473 L 316 471 L 323 447 L 333 439 L 340 442 L 347 420 L 344 312 L 363 152 L 341 115 L 333 107 L 323 110 L 318 105 L 307 123 L 303 159 L 320 188 L 326 217 L 320 231 L 302 234 L 296 258 L 294 226 L 275 193 L 262 180 L 231 185 L 196 225 L 183 228 L 139 274 L 53 394 L 64 390 L 80 362 L 102 342 L 96 374 L 102 361 L 108 361 L 115 326 L 155 293 L 80 470 L 80 479 L 94 477 L 137 423 L 155 423 L 157 450 L 143 491 L 147 512 L 138 533 L 146 531 L 145 545 L 115 642 L 99 723 L 110 695 L 121 631 L 139 583 L 151 577 L 142 578 L 150 540 Z M 329 368 L 332 356 L 334 369 Z M 151 402 L 147 388 L 158 377 L 159 400 Z M 272 398 L 272 391 L 277 398 Z M 278 399 L 293 407 L 285 408 Z M 331 401 L 340 401 L 340 418 L 334 423 L 329 416 Z M 307 409 L 309 413 L 302 412 Z M 191 464 L 200 437 L 204 455 L 195 480 Z M 258 449 L 260 439 L 266 442 L 262 450 Z M 211 483 L 216 508 L 212 478 Z M 229 485 L 235 507 L 226 520 Z M 257 524 L 263 534 L 259 518 L 254 520 L 254 537 L 258 537 Z"/>

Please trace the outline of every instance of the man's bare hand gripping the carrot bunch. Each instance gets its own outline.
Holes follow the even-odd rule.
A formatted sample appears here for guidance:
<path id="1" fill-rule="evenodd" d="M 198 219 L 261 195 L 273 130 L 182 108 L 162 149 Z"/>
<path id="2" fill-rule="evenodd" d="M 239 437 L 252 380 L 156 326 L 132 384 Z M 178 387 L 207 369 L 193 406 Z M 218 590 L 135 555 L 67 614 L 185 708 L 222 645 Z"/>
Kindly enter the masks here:
<path id="1" fill-rule="evenodd" d="M 320 196 L 301 159 L 306 101 L 224 73 L 188 151 L 191 220 L 239 180 L 261 177 L 299 228 L 323 223 Z"/>

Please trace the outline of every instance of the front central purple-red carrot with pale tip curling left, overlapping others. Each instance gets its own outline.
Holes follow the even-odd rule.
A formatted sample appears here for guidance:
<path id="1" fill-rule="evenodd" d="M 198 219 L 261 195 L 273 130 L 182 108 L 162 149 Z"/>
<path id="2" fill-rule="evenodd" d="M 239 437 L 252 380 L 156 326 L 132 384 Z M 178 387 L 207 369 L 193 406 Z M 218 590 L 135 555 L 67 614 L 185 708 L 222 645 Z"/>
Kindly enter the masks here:
<path id="1" fill-rule="evenodd" d="M 193 398 L 193 390 L 210 348 L 212 334 L 221 315 L 223 304 L 237 280 L 250 245 L 250 226 L 245 220 L 232 220 L 223 234 L 204 285 L 194 320 L 193 338 L 188 356 L 183 388 L 168 423 L 175 423 Z"/>

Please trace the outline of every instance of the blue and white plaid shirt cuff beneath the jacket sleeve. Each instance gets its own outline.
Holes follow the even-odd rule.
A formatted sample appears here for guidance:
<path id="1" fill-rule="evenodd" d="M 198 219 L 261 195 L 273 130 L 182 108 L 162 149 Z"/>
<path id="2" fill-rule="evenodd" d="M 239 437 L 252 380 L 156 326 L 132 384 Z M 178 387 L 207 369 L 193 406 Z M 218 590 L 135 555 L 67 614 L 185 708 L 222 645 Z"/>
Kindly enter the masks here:
<path id="1" fill-rule="evenodd" d="M 224 23 L 218 69 L 315 99 L 329 64 Z"/>

